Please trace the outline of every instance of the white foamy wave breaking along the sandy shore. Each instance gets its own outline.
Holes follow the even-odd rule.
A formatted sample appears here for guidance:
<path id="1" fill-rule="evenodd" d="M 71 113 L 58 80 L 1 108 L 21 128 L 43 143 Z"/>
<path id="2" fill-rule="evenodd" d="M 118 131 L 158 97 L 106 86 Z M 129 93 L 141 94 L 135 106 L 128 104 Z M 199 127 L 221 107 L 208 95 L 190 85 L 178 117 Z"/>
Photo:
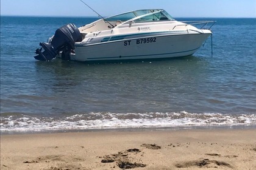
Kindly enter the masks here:
<path id="1" fill-rule="evenodd" d="M 1 117 L 1 132 L 40 132 L 88 129 L 122 129 L 180 126 L 256 125 L 256 114 L 193 114 L 188 112 L 76 114 L 67 117 Z"/>

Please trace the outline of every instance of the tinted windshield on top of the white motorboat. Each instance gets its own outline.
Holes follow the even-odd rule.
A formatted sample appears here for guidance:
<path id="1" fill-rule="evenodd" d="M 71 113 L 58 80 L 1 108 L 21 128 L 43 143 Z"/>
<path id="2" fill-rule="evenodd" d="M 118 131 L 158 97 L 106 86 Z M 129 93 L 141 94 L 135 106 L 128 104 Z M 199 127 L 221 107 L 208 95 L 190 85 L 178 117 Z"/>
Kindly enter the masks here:
<path id="1" fill-rule="evenodd" d="M 115 15 L 115 16 L 110 16 L 108 18 L 105 18 L 107 21 L 128 21 L 130 19 L 133 19 L 133 18 L 137 18 L 139 16 L 143 16 L 143 15 L 147 15 L 149 13 L 155 13 L 155 12 L 161 12 L 162 15 L 157 15 L 155 14 L 155 16 L 147 16 L 148 18 L 151 17 L 151 21 L 152 19 L 155 17 L 155 18 L 167 18 L 167 20 L 169 19 L 172 19 L 172 17 L 167 13 L 165 12 L 164 10 L 160 10 L 160 9 L 154 9 L 154 10 L 136 10 L 136 11 L 133 11 L 133 12 L 127 12 L 127 13 L 122 13 L 120 15 Z M 146 18 L 145 18 L 146 19 Z M 159 20 L 159 19 L 158 19 Z"/>

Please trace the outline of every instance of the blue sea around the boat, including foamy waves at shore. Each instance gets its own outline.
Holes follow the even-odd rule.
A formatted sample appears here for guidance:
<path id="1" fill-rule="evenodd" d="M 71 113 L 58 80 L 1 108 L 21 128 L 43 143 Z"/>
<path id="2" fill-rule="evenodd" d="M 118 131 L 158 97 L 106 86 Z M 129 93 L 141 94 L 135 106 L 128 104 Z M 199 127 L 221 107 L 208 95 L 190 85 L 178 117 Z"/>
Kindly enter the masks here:
<path id="1" fill-rule="evenodd" d="M 176 18 L 216 21 L 182 58 L 34 59 L 55 30 L 96 19 L 1 16 L 1 134 L 256 127 L 256 18 Z"/>

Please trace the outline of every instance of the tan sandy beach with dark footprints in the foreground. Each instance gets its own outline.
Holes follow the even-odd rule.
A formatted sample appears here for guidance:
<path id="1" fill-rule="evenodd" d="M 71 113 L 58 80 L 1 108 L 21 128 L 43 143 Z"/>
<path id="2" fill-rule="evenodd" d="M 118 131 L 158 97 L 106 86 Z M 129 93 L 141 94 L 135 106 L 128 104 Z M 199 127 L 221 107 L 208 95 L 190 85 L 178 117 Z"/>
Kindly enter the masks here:
<path id="1" fill-rule="evenodd" d="M 256 129 L 1 135 L 0 169 L 256 169 Z"/>

